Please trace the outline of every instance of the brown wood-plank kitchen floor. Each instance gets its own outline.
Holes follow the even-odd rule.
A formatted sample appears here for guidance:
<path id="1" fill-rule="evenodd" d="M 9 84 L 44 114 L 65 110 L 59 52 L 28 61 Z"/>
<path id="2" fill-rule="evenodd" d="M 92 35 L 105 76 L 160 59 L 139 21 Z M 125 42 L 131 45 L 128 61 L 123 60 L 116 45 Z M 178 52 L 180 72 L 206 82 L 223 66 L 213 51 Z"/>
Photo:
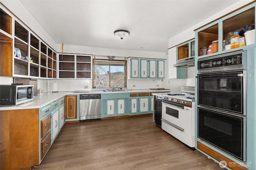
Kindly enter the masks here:
<path id="1" fill-rule="evenodd" d="M 223 170 L 160 129 L 152 115 L 65 124 L 44 170 Z"/>

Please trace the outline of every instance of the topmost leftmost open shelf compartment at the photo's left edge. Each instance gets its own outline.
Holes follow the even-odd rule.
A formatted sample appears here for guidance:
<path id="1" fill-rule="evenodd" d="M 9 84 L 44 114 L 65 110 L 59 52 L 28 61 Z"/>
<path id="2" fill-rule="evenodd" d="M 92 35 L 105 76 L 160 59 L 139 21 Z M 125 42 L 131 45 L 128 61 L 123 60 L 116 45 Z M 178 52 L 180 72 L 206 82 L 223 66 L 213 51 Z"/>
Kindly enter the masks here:
<path id="1" fill-rule="evenodd" d="M 12 17 L 0 8 L 0 29 L 12 35 Z"/>

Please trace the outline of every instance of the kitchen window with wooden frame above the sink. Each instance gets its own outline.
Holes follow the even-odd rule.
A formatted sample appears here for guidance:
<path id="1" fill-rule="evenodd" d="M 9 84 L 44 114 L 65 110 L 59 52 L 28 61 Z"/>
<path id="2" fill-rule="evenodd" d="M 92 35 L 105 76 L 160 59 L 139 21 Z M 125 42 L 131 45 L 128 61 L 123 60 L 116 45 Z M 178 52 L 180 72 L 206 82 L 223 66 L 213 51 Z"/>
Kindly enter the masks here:
<path id="1" fill-rule="evenodd" d="M 96 88 L 126 87 L 126 61 L 94 59 L 93 86 Z"/>

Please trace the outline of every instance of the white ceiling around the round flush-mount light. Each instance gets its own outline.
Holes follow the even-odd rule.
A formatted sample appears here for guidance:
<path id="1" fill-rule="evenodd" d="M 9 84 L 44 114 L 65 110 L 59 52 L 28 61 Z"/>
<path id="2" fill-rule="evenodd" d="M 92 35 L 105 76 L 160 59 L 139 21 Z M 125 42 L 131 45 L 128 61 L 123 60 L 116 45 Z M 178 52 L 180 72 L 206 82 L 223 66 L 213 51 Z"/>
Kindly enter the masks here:
<path id="1" fill-rule="evenodd" d="M 167 53 L 168 39 L 239 0 L 20 0 L 57 44 Z M 114 36 L 126 29 L 126 39 Z"/>

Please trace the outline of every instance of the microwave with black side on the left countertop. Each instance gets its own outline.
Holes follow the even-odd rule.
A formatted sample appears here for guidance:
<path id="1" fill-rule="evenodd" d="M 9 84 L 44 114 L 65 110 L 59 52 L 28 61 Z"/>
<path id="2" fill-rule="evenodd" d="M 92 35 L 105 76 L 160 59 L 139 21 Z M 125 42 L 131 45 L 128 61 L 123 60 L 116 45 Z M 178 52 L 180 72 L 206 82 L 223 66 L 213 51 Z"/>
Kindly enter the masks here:
<path id="1" fill-rule="evenodd" d="M 34 100 L 34 85 L 0 85 L 0 105 L 18 105 Z"/>

